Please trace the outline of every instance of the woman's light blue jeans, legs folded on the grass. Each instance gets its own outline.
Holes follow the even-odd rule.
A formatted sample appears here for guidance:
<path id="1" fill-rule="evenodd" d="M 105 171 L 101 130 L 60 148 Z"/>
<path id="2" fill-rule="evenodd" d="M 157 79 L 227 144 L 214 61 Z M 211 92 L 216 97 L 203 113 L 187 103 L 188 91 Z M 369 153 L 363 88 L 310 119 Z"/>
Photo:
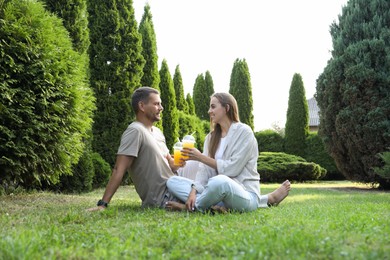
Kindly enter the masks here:
<path id="1" fill-rule="evenodd" d="M 173 196 L 186 202 L 193 183 L 191 179 L 173 176 L 168 179 L 167 187 Z M 262 197 L 263 200 L 268 200 L 268 196 Z M 260 207 L 255 193 L 246 191 L 241 185 L 225 175 L 217 175 L 209 179 L 202 193 L 197 193 L 195 208 L 204 211 L 221 202 L 226 208 L 240 212 L 252 211 Z"/>

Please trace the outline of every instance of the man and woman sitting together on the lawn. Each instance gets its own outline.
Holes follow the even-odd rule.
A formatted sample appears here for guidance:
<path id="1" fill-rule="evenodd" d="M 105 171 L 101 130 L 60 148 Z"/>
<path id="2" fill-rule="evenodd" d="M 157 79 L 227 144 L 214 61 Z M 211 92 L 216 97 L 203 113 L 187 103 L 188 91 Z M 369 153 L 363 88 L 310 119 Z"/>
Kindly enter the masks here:
<path id="1" fill-rule="evenodd" d="M 169 154 L 164 135 L 153 126 L 163 110 L 159 92 L 150 87 L 138 88 L 132 96 L 132 107 L 136 121 L 122 135 L 103 198 L 89 211 L 108 206 L 127 170 L 142 207 L 245 212 L 276 206 L 287 197 L 288 180 L 273 192 L 260 195 L 257 141 L 252 129 L 239 122 L 237 102 L 232 95 L 211 96 L 212 131 L 206 136 L 203 153 L 196 148 L 184 148 L 183 155 L 188 159 L 179 166 Z"/>

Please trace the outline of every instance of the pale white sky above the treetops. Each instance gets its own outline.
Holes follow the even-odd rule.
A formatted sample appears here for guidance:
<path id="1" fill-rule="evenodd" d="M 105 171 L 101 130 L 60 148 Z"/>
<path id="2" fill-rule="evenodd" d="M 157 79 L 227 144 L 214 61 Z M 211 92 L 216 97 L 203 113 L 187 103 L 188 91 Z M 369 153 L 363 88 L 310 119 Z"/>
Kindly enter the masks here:
<path id="1" fill-rule="evenodd" d="M 302 76 L 306 98 L 331 58 L 330 25 L 348 0 L 133 0 L 138 23 L 149 3 L 159 68 L 177 65 L 185 95 L 209 71 L 215 92 L 228 92 L 236 59 L 251 76 L 255 131 L 284 128 L 291 81 Z"/>

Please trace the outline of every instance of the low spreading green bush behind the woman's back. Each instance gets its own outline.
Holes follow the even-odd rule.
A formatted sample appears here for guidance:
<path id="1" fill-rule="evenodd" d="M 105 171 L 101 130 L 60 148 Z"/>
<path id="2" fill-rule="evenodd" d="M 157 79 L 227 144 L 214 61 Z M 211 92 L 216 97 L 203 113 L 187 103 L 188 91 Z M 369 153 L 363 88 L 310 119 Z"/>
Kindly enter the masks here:
<path id="1" fill-rule="evenodd" d="M 262 152 L 257 161 L 257 171 L 262 182 L 318 180 L 326 175 L 326 169 L 302 157 L 275 152 Z"/>

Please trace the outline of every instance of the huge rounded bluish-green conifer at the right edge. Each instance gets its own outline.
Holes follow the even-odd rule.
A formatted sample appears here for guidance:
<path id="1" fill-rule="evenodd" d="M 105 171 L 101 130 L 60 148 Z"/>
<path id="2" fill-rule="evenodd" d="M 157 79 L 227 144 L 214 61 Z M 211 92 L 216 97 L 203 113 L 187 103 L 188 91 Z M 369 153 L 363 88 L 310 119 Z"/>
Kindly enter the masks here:
<path id="1" fill-rule="evenodd" d="M 390 2 L 351 0 L 331 25 L 332 57 L 317 80 L 319 134 L 349 180 L 390 183 L 375 174 L 390 146 Z"/>

